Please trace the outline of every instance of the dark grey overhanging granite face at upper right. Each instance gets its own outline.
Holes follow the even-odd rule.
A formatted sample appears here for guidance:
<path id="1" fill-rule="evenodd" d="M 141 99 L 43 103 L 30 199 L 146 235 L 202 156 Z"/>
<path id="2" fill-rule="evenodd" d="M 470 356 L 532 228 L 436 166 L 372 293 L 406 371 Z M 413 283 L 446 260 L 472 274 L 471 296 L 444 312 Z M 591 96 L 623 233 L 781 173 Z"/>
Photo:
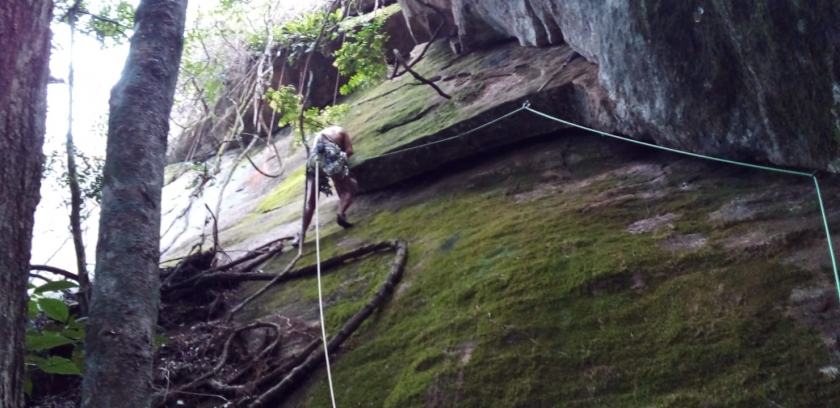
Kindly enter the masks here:
<path id="1" fill-rule="evenodd" d="M 428 10 L 401 0 L 412 32 Z M 840 169 L 840 3 L 436 0 L 460 48 L 567 42 L 619 130 L 716 156 Z"/>

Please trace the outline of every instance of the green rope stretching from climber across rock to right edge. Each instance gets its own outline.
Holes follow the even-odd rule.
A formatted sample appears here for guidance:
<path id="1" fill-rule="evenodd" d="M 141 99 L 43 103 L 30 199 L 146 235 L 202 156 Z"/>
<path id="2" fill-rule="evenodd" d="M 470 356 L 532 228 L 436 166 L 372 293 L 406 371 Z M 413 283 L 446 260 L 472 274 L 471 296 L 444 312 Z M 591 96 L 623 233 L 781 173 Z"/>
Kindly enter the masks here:
<path id="1" fill-rule="evenodd" d="M 686 156 L 696 157 L 696 158 L 699 158 L 699 159 L 712 160 L 712 161 L 716 161 L 716 162 L 720 162 L 720 163 L 734 164 L 734 165 L 737 165 L 737 166 L 750 167 L 750 168 L 759 169 L 759 170 L 767 170 L 767 171 L 773 171 L 773 172 L 777 172 L 777 173 L 790 174 L 790 175 L 794 175 L 794 176 L 802 176 L 802 177 L 813 178 L 814 179 L 814 185 L 817 188 L 817 200 L 820 203 L 820 210 L 822 211 L 823 224 L 825 225 L 825 238 L 828 241 L 828 253 L 829 253 L 829 255 L 831 255 L 831 266 L 834 269 L 834 282 L 837 285 L 837 296 L 838 296 L 838 299 L 840 299 L 840 272 L 837 271 L 837 260 L 834 257 L 834 247 L 831 244 L 831 231 L 828 227 L 828 216 L 826 216 L 825 204 L 823 203 L 822 194 L 820 193 L 820 182 L 817 179 L 817 176 L 813 173 L 805 173 L 805 172 L 801 172 L 801 171 L 779 169 L 779 168 L 776 168 L 776 167 L 767 167 L 767 166 L 761 166 L 761 165 L 758 165 L 758 164 L 750 164 L 750 163 L 743 163 L 743 162 L 734 161 L 734 160 L 721 159 L 721 158 L 718 158 L 718 157 L 706 156 L 706 155 L 703 155 L 703 154 L 691 153 L 691 152 L 686 152 L 686 151 L 682 151 L 682 150 L 672 149 L 670 147 L 659 146 L 659 145 L 655 145 L 655 144 L 652 144 L 652 143 L 642 142 L 640 140 L 630 139 L 628 137 L 617 136 L 617 135 L 614 135 L 614 134 L 611 134 L 611 133 L 602 132 L 602 131 L 597 130 L 597 129 L 592 129 L 592 128 L 589 128 L 589 127 L 586 127 L 586 126 L 578 125 L 577 123 L 572 123 L 572 122 L 569 122 L 569 121 L 566 121 L 566 120 L 563 120 L 563 119 L 555 118 L 554 116 L 547 115 L 547 114 L 542 113 L 540 111 L 531 109 L 531 103 L 530 102 L 525 102 L 522 105 L 521 108 L 516 109 L 513 112 L 510 112 L 507 115 L 501 116 L 501 117 L 499 117 L 495 120 L 487 122 L 487 123 L 485 123 L 485 124 L 483 124 L 483 125 L 481 125 L 477 128 L 474 128 L 474 129 L 468 130 L 464 133 L 461 133 L 457 136 L 452 136 L 452 137 L 448 137 L 448 138 L 445 138 L 445 139 L 436 140 L 434 142 L 422 144 L 422 145 L 419 145 L 419 146 L 412 146 L 412 147 L 408 147 L 408 148 L 405 148 L 405 149 L 396 150 L 396 151 L 393 151 L 393 152 L 388 152 L 388 153 L 385 153 L 385 154 L 382 154 L 382 155 L 379 155 L 379 156 L 376 156 L 376 157 L 372 157 L 371 159 L 378 159 L 380 157 L 390 156 L 390 155 L 394 155 L 394 154 L 398 154 L 398 153 L 405 153 L 405 152 L 410 151 L 410 150 L 420 149 L 420 148 L 430 146 L 430 145 L 433 145 L 433 144 L 438 144 L 438 143 L 443 143 L 443 142 L 446 142 L 446 141 L 449 141 L 449 140 L 458 139 L 460 137 L 466 136 L 470 133 L 473 133 L 475 131 L 478 131 L 480 129 L 483 129 L 483 128 L 486 128 L 490 125 L 493 125 L 497 122 L 500 122 L 504 119 L 507 119 L 507 118 L 519 113 L 519 112 L 522 112 L 522 111 L 529 111 L 529 112 L 534 113 L 538 116 L 542 116 L 546 119 L 550 119 L 550 120 L 553 120 L 555 122 L 560 122 L 564 125 L 576 127 L 578 129 L 583 129 L 583 130 L 586 130 L 586 131 L 589 131 L 589 132 L 597 133 L 597 134 L 602 135 L 602 136 L 611 137 L 613 139 L 623 140 L 625 142 L 630 142 L 630 143 L 635 143 L 635 144 L 642 145 L 642 146 L 652 147 L 654 149 L 665 150 L 665 151 L 672 152 L 672 153 L 677 153 L 677 154 L 682 154 L 682 155 L 686 155 Z"/>

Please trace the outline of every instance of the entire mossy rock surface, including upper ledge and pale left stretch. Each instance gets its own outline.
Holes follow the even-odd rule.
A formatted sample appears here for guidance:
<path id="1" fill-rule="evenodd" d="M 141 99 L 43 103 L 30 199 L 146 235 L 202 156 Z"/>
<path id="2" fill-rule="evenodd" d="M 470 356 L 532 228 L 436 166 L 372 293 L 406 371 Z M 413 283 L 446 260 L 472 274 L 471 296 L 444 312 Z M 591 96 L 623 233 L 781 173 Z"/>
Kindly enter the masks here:
<path id="1" fill-rule="evenodd" d="M 524 113 L 379 157 L 460 135 L 525 100 L 614 130 L 597 67 L 577 59 L 556 70 L 570 52 L 503 44 L 456 57 L 434 45 L 416 69 L 440 76 L 452 100 L 405 76 L 347 101 L 353 171 L 371 193 L 350 210 L 350 230 L 334 223 L 335 198 L 322 197 L 322 258 L 404 239 L 409 260 L 396 294 L 333 359 L 339 404 L 838 406 L 830 374 L 840 367 L 840 309 L 811 180 L 660 153 Z M 299 228 L 303 149 L 281 142 L 282 168 L 270 166 L 270 152 L 253 156 L 280 178 L 243 164 L 225 191 L 219 229 L 231 254 Z M 187 177 L 195 174 L 167 187 L 169 201 L 183 201 Z M 202 198 L 211 206 L 219 179 Z M 823 197 L 840 231 L 838 185 L 824 180 Z M 201 234 L 201 204 L 176 249 Z M 180 212 L 169 207 L 167 221 Z M 312 231 L 308 239 L 300 265 L 315 259 Z M 261 269 L 279 272 L 290 256 Z M 328 332 L 367 302 L 391 259 L 377 254 L 324 275 Z M 272 289 L 239 318 L 288 318 L 317 335 L 315 280 Z M 284 349 L 305 344 L 304 334 Z M 291 405 L 328 406 L 324 374 Z"/>

